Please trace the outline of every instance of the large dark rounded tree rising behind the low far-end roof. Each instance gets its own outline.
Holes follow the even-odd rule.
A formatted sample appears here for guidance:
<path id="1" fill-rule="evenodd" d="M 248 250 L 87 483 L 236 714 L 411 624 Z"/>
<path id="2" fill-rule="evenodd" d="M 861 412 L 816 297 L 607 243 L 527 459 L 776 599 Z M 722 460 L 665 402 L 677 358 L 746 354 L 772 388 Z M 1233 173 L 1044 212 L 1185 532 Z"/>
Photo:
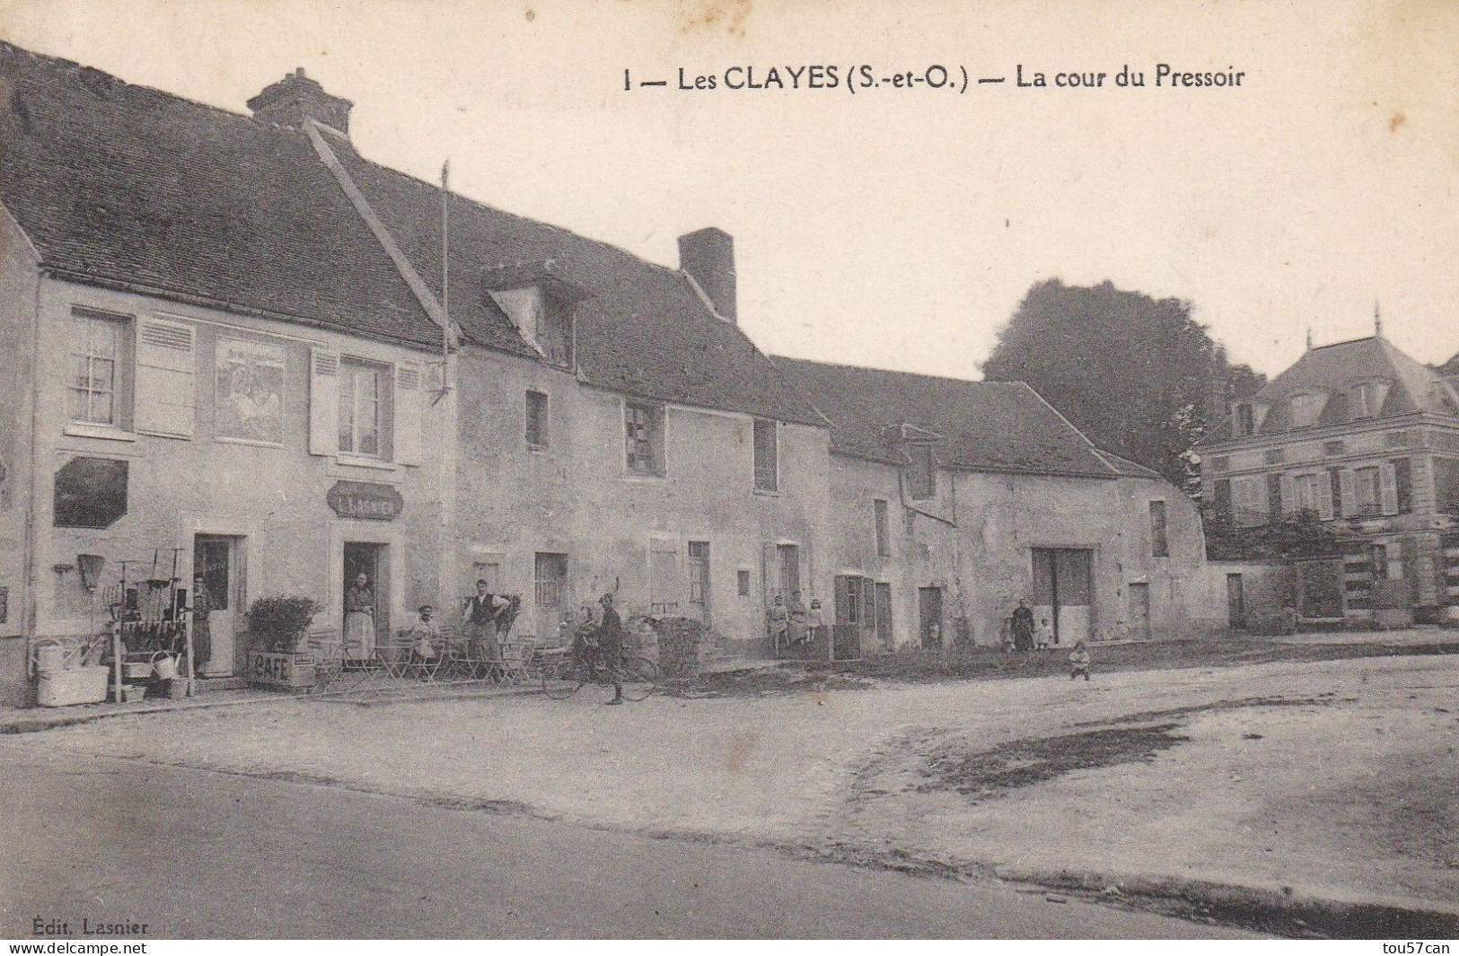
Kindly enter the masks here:
<path id="1" fill-rule="evenodd" d="M 1036 283 L 983 363 L 992 381 L 1029 382 L 1106 451 L 1199 493 L 1192 448 L 1266 378 L 1230 365 L 1191 304 L 1104 282 Z"/>

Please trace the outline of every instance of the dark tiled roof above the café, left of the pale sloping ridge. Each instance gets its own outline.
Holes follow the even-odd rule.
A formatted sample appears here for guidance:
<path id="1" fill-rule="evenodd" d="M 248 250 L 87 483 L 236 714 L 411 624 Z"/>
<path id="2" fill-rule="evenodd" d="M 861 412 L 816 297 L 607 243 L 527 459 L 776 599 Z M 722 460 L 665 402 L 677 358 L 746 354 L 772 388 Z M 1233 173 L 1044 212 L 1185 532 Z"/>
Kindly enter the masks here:
<path id="1" fill-rule="evenodd" d="M 302 134 L 9 44 L 0 82 L 0 200 L 48 269 L 439 342 Z"/>

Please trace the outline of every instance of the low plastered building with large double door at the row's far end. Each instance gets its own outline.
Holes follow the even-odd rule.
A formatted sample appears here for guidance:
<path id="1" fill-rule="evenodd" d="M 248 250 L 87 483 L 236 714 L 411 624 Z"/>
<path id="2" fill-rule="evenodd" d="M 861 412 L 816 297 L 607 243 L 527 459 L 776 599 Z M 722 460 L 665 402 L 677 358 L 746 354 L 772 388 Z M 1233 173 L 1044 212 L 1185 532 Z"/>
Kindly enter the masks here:
<path id="1" fill-rule="evenodd" d="M 776 362 L 832 422 L 835 619 L 862 652 L 996 644 L 1020 598 L 1062 645 L 1224 628 L 1193 504 L 1026 384 Z"/>

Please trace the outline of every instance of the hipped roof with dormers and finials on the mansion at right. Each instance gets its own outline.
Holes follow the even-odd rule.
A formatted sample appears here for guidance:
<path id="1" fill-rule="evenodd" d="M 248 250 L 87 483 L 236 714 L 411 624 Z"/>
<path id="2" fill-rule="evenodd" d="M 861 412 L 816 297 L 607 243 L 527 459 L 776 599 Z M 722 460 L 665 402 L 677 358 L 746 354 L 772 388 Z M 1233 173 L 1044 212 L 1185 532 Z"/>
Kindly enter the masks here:
<path id="1" fill-rule="evenodd" d="M 1342 425 L 1350 420 L 1348 396 L 1364 381 L 1383 381 L 1389 391 L 1377 417 L 1436 412 L 1459 415 L 1459 403 L 1450 382 L 1437 371 L 1409 358 L 1379 336 L 1338 342 L 1309 349 L 1285 372 L 1252 396 L 1253 401 L 1269 406 L 1261 433 L 1278 433 L 1291 428 L 1293 396 L 1317 393 L 1325 396 L 1316 425 Z M 1230 416 L 1202 444 L 1233 438 Z"/>

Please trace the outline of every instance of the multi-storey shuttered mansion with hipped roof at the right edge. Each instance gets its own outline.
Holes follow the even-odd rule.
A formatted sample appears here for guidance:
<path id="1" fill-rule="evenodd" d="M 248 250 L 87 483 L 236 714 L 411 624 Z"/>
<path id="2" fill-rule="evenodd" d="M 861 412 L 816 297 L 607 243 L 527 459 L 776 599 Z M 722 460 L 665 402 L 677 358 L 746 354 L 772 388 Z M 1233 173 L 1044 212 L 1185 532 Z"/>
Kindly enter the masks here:
<path id="1" fill-rule="evenodd" d="M 1453 617 L 1459 393 L 1377 334 L 1309 349 L 1201 445 L 1202 493 L 1236 528 L 1304 517 L 1341 556 L 1303 560 L 1307 619 Z M 1233 581 L 1240 587 L 1240 581 Z"/>

